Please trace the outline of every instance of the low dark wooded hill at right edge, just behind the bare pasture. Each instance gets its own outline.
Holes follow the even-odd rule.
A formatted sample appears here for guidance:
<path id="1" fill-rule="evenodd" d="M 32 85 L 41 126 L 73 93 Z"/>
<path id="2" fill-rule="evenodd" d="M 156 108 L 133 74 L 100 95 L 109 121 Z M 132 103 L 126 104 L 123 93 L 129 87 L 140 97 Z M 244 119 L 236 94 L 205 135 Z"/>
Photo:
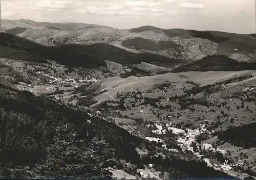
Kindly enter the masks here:
<path id="1" fill-rule="evenodd" d="M 256 63 L 239 62 L 224 55 L 210 55 L 198 61 L 179 66 L 172 72 L 185 71 L 239 71 L 254 70 Z"/>

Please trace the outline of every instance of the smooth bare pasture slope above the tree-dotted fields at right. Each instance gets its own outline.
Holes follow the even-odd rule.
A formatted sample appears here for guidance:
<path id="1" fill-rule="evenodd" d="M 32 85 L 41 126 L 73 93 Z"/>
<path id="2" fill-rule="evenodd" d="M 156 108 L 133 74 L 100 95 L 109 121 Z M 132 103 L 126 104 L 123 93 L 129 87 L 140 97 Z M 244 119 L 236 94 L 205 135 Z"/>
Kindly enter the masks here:
<path id="1" fill-rule="evenodd" d="M 107 90 L 96 97 L 96 100 L 113 99 L 117 92 L 132 92 L 133 90 L 143 91 L 155 84 L 161 84 L 166 81 L 184 83 L 186 81 L 193 81 L 201 84 L 202 86 L 214 84 L 216 82 L 228 80 L 234 76 L 241 76 L 245 74 L 255 75 L 255 70 L 244 71 L 207 71 L 207 72 L 179 72 L 179 73 L 166 73 L 154 76 L 144 76 L 137 78 L 130 76 L 129 78 L 112 77 L 103 80 L 102 87 Z M 110 96 L 111 95 L 111 96 Z"/>

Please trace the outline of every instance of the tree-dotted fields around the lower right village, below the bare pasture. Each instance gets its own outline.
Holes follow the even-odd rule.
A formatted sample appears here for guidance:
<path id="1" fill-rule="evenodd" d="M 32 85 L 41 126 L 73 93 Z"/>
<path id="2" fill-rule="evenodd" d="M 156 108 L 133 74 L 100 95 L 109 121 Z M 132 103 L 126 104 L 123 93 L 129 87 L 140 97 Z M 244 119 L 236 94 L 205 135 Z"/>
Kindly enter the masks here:
<path id="1" fill-rule="evenodd" d="M 132 92 L 117 93 L 115 99 L 92 105 L 97 111 L 90 113 L 90 116 L 115 122 L 129 133 L 155 142 L 160 151 L 188 153 L 203 160 L 209 167 L 237 176 L 238 169 L 224 165 L 224 160 L 244 161 L 245 166 L 251 165 L 251 169 L 255 169 L 252 166 L 255 163 L 255 148 L 238 148 L 236 153 L 232 151 L 234 155 L 231 156 L 230 148 L 226 149 L 230 145 L 218 139 L 218 134 L 237 126 L 233 118 L 241 118 L 241 123 L 237 122 L 239 125 L 255 121 L 253 112 L 256 105 L 250 100 L 254 98 L 255 85 L 245 84 L 237 89 L 237 95 L 226 99 L 215 101 L 212 96 L 218 95 L 217 87 L 220 85 L 239 83 L 253 77 L 246 74 L 203 87 L 190 81 L 182 85 L 179 82 L 165 82 L 142 92 L 131 87 Z M 247 159 L 238 160 L 241 154 Z"/>

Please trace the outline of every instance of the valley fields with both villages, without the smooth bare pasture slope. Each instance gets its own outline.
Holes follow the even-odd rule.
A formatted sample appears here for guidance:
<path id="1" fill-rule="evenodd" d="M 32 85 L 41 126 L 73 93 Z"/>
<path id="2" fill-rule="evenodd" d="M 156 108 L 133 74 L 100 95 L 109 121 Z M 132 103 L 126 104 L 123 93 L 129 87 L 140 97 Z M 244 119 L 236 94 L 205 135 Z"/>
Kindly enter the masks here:
<path id="1" fill-rule="evenodd" d="M 157 153 L 168 151 L 193 155 L 209 167 L 237 176 L 238 173 L 232 167 L 222 165 L 225 159 L 230 162 L 240 160 L 229 156 L 230 150 L 225 149 L 228 144 L 218 139 L 218 133 L 227 130 L 229 126 L 237 126 L 233 124 L 233 118 L 238 119 L 239 125 L 255 121 L 255 85 L 243 84 L 239 86 L 240 89 L 236 89 L 235 95 L 216 97 L 220 95 L 218 93 L 221 86 L 222 91 L 225 91 L 225 86 L 230 83 L 250 80 L 255 74 L 234 76 L 208 86 L 201 86 L 193 81 L 165 81 L 143 91 L 131 86 L 127 92 L 109 94 L 103 83 L 104 79 L 111 76 L 118 78 L 120 73 L 131 70 L 127 66 L 115 68 L 112 62 L 106 62 L 109 70 L 71 69 L 51 61 L 39 65 L 1 59 L 1 65 L 6 70 L 1 75 L 2 78 L 13 81 L 19 90 L 47 95 L 59 102 L 78 107 L 91 117 L 116 123 L 130 134 L 154 142 L 159 147 Z M 185 76 L 180 77 L 184 79 Z M 101 95 L 108 98 L 104 99 Z M 244 116 L 247 121 L 244 121 Z M 255 148 L 239 148 L 236 154 L 243 153 L 247 156 L 247 153 L 251 158 L 246 163 L 255 163 L 254 150 Z M 146 149 L 139 151 L 142 155 L 148 153 Z M 150 164 L 148 168 L 153 166 Z M 255 166 L 251 170 L 253 168 Z"/>

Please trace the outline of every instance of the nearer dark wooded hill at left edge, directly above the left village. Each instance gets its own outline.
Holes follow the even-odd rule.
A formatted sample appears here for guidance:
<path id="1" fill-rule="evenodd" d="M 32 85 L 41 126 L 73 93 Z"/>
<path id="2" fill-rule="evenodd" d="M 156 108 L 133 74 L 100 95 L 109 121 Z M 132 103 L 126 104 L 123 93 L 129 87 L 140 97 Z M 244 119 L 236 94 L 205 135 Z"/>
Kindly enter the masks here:
<path id="1" fill-rule="evenodd" d="M 1 57 L 32 61 L 47 62 L 53 60 L 67 66 L 99 67 L 106 66 L 97 57 L 73 48 L 73 46 L 46 47 L 26 38 L 1 33 Z"/>

